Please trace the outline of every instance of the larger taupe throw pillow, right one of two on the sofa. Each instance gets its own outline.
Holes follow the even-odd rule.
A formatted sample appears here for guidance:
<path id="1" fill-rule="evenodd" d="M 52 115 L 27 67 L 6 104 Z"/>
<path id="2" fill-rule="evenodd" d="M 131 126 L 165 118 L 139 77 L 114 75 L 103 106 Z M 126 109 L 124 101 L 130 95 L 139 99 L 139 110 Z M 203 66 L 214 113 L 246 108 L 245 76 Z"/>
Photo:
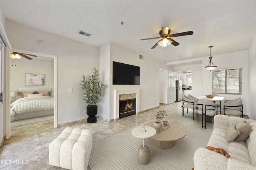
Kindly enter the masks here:
<path id="1" fill-rule="evenodd" d="M 249 136 L 250 132 L 252 131 L 252 127 L 251 125 L 247 125 L 245 121 L 240 121 L 236 125 L 236 130 L 240 131 L 240 135 L 236 137 L 236 141 L 240 142 L 244 141 Z"/>

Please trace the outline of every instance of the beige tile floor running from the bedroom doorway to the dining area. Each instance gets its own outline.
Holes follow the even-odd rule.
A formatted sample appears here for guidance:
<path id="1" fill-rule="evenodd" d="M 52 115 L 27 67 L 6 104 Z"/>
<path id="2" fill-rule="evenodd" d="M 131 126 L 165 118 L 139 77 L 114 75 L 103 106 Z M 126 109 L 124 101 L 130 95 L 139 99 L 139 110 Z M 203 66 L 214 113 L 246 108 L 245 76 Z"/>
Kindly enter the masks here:
<path id="1" fill-rule="evenodd" d="M 130 129 L 140 123 L 152 120 L 155 121 L 155 114 L 158 110 L 166 110 L 168 121 L 178 122 L 196 129 L 202 129 L 202 116 L 199 116 L 199 123 L 196 118 L 193 120 L 192 109 L 182 116 L 182 102 L 175 102 L 170 105 L 161 105 L 160 107 L 143 111 L 138 115 L 124 117 L 118 121 L 107 122 L 103 119 L 97 119 L 96 123 L 87 123 L 86 119 L 76 123 L 64 123 L 58 128 L 53 127 L 53 120 L 32 123 L 11 128 L 11 138 L 4 141 L 0 147 L 0 169 L 1 170 L 56 170 L 62 169 L 50 166 L 48 163 L 48 146 L 63 131 L 65 127 L 77 127 L 81 129 L 90 129 L 93 132 L 93 143 L 116 135 L 126 129 Z M 207 123 L 203 131 L 212 131 L 213 123 Z M 88 168 L 90 170 L 90 168 Z"/>

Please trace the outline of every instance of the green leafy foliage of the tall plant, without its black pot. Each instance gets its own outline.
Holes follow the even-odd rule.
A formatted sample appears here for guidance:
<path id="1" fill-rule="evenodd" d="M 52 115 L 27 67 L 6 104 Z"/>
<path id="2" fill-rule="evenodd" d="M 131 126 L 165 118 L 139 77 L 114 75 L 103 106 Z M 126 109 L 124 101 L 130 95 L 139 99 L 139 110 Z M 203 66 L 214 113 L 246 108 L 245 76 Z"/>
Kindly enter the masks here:
<path id="1" fill-rule="evenodd" d="M 88 76 L 88 79 L 85 79 L 85 76 L 82 76 L 80 84 L 82 86 L 82 90 L 84 90 L 84 101 L 88 105 L 96 105 L 96 103 L 100 102 L 99 97 L 101 96 L 102 89 L 106 87 L 106 85 L 101 84 L 97 76 L 99 75 L 99 71 L 94 67 L 92 69 L 92 76 Z"/>

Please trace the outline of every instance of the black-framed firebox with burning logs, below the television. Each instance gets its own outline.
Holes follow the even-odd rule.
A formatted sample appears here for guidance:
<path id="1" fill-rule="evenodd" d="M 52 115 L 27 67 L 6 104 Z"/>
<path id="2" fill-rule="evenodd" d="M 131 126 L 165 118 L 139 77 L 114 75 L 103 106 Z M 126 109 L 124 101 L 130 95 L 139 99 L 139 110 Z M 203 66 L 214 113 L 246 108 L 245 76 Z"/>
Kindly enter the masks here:
<path id="1" fill-rule="evenodd" d="M 119 101 L 119 118 L 136 114 L 136 98 Z"/>

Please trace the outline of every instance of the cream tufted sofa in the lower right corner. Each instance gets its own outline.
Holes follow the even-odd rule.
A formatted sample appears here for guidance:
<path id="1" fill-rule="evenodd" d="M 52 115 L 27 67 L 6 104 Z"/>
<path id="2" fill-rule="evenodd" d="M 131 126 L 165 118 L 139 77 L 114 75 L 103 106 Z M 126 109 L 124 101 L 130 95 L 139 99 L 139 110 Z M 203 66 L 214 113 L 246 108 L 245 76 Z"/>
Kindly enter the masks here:
<path id="1" fill-rule="evenodd" d="M 226 130 L 241 121 L 251 125 L 249 137 L 240 142 L 236 140 L 228 142 Z M 256 121 L 215 115 L 214 129 L 207 146 L 226 150 L 230 158 L 201 147 L 194 154 L 194 170 L 256 170 Z"/>

